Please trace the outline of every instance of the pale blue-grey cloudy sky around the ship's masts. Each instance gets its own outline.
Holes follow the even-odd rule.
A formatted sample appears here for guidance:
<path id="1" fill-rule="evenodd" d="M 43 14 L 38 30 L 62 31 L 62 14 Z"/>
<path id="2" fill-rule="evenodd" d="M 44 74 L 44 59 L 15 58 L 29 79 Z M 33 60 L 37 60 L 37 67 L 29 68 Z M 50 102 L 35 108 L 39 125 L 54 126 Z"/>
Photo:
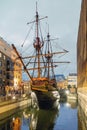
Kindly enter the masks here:
<path id="1" fill-rule="evenodd" d="M 81 10 L 81 0 L 37 0 L 39 15 L 48 16 L 50 35 L 58 39 L 58 44 L 69 53 L 57 74 L 68 75 L 77 72 L 77 36 Z M 0 0 L 0 36 L 19 50 L 36 12 L 36 0 Z M 46 25 L 46 24 L 45 24 Z"/>

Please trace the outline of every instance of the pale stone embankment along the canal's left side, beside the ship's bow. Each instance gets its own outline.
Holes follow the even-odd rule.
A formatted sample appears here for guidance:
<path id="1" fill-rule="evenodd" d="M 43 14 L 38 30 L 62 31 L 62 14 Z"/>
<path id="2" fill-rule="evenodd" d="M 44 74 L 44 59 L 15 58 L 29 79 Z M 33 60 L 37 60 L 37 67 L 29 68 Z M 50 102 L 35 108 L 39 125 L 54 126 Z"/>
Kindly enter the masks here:
<path id="1" fill-rule="evenodd" d="M 31 106 L 31 98 L 29 97 L 0 101 L 0 120 L 28 106 Z"/>

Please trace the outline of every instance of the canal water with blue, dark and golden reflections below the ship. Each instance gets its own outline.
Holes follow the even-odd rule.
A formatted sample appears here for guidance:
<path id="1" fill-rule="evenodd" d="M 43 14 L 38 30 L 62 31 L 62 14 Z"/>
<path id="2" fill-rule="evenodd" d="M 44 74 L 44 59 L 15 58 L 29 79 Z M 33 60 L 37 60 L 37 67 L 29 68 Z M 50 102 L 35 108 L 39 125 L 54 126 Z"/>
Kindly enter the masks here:
<path id="1" fill-rule="evenodd" d="M 19 127 L 14 120 L 19 119 Z M 79 130 L 77 102 L 60 103 L 58 109 L 26 108 L 0 121 L 0 130 Z"/>

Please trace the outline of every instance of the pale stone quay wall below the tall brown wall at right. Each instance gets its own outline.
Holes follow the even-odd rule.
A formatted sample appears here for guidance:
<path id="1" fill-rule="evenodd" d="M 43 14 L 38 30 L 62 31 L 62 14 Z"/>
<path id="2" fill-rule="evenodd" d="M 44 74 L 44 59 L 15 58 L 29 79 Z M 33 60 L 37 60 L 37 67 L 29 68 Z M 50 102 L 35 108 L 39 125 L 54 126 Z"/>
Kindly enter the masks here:
<path id="1" fill-rule="evenodd" d="M 87 130 L 87 87 L 78 88 L 78 117 L 82 130 Z"/>

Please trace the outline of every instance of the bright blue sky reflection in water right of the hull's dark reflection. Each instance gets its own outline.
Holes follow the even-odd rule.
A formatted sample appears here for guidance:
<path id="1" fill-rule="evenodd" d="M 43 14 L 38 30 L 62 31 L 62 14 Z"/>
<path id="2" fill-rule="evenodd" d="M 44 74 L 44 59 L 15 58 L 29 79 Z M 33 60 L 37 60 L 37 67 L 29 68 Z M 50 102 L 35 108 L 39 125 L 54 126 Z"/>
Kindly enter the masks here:
<path id="1" fill-rule="evenodd" d="M 54 130 L 78 130 L 77 101 L 68 101 L 60 104 L 59 117 Z"/>

